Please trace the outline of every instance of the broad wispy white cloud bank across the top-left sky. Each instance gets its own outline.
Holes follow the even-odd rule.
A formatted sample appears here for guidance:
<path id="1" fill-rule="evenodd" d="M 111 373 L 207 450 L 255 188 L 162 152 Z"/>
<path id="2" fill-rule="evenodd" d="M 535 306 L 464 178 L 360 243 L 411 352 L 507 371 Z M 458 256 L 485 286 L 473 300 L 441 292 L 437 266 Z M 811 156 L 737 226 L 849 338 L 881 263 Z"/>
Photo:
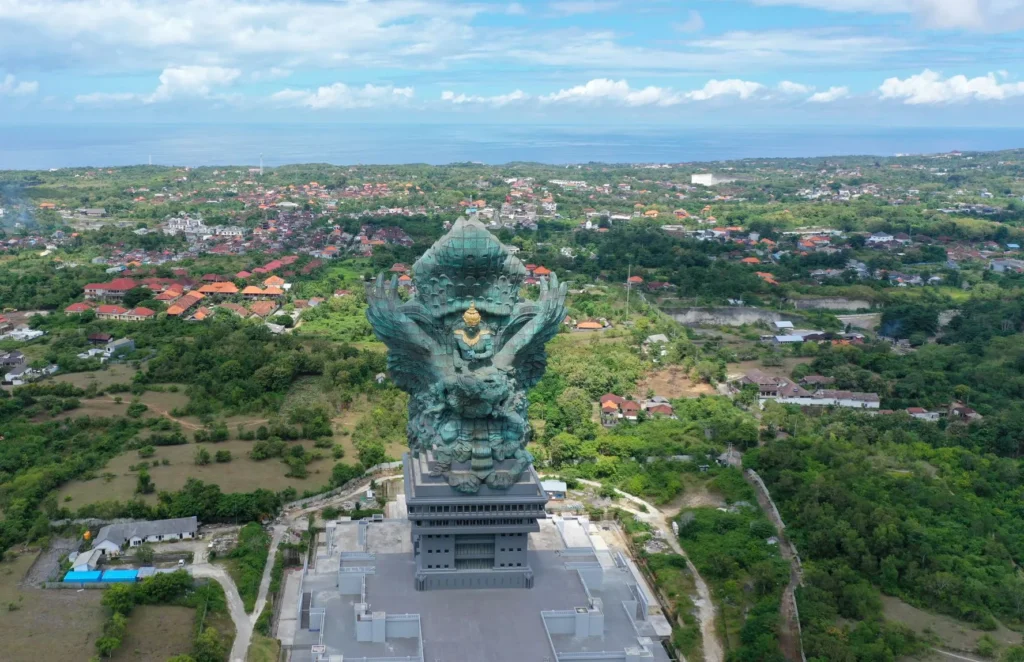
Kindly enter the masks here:
<path id="1" fill-rule="evenodd" d="M 434 63 L 418 53 L 454 56 L 477 41 L 470 22 L 484 10 L 442 0 L 0 0 L 0 61 L 424 68 Z"/>

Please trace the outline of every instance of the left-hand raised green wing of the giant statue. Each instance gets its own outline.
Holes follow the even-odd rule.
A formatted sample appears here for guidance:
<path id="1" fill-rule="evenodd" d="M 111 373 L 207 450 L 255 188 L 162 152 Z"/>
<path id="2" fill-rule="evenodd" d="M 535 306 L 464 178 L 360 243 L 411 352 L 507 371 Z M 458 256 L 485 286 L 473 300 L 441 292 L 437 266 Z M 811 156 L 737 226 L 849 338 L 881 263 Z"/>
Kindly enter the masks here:
<path id="1" fill-rule="evenodd" d="M 374 334 L 387 345 L 387 367 L 394 383 L 415 392 L 439 377 L 434 363 L 437 343 L 430 335 L 431 320 L 423 306 L 403 303 L 398 281 L 377 277 L 368 295 L 367 318 Z"/>

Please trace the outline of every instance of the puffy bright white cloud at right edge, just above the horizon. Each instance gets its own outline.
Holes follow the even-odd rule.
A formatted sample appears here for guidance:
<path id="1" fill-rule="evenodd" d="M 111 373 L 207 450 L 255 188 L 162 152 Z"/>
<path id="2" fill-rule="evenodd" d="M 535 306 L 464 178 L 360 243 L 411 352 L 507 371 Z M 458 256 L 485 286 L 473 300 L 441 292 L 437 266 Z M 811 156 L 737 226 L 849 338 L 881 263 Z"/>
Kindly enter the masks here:
<path id="1" fill-rule="evenodd" d="M 908 105 L 992 101 L 1024 96 L 1024 83 L 1000 83 L 995 74 L 943 78 L 940 73 L 926 69 L 905 79 L 888 78 L 879 91 L 882 98 L 903 99 Z"/>

